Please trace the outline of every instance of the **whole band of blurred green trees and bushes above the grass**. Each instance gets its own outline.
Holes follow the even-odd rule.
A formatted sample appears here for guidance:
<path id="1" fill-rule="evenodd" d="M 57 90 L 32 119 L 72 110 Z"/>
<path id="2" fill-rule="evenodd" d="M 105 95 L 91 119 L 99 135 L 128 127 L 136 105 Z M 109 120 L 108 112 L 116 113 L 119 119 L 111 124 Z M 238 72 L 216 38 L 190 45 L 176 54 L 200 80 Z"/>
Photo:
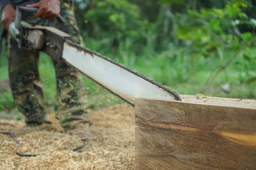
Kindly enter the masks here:
<path id="1" fill-rule="evenodd" d="M 83 8 L 79 8 L 81 4 Z M 202 57 L 216 58 L 218 62 L 211 66 L 214 71 L 255 36 L 255 5 L 255 0 L 76 1 L 77 11 L 83 13 L 83 18 L 78 20 L 84 37 L 98 43 L 94 45 L 99 46 L 95 50 L 119 56 L 117 59 L 122 62 L 126 60 L 120 54 L 122 50 L 147 58 L 157 52 L 158 58 L 168 57 L 170 62 L 182 54 L 186 62 L 179 71 L 173 69 L 180 74 L 179 82 L 196 80 L 196 62 Z M 86 43 L 93 46 L 92 42 Z M 227 51 L 229 56 L 225 55 Z M 255 83 L 252 65 L 255 59 L 251 50 L 244 50 L 241 56 L 243 64 L 236 61 L 239 64 L 234 65 L 246 75 L 240 83 Z M 140 60 L 140 57 L 127 58 L 134 62 Z M 228 76 L 223 81 L 228 81 Z"/>

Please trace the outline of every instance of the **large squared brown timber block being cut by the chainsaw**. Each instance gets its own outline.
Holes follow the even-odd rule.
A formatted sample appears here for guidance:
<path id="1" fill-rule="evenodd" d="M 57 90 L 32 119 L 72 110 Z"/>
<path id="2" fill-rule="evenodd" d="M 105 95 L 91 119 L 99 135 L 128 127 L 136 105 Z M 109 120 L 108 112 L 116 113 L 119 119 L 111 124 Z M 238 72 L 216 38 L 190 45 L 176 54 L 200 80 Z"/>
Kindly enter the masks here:
<path id="1" fill-rule="evenodd" d="M 255 100 L 182 98 L 136 99 L 136 169 L 256 169 Z"/>

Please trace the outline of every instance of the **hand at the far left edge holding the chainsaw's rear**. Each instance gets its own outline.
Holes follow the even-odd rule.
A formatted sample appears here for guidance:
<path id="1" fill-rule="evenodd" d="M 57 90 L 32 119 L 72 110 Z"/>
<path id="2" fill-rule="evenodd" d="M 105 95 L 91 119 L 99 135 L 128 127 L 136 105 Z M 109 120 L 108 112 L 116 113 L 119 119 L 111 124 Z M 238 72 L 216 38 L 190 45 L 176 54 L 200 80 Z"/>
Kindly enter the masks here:
<path id="1" fill-rule="evenodd" d="M 15 14 L 16 10 L 13 8 L 12 4 L 6 4 L 6 6 L 4 6 L 2 9 L 1 22 L 7 31 L 11 22 L 15 20 Z"/>

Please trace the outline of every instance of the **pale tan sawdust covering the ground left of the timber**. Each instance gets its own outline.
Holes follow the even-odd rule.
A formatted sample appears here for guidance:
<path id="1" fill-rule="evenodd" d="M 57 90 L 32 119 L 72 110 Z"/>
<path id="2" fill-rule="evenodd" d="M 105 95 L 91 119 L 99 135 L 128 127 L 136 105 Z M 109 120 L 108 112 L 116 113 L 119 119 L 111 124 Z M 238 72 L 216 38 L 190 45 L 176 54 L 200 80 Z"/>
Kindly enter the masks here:
<path id="1" fill-rule="evenodd" d="M 92 112 L 92 139 L 80 139 L 61 133 L 60 125 L 26 127 L 24 122 L 0 120 L 0 131 L 12 131 L 19 141 L 0 134 L 0 169 L 134 169 L 134 108 L 127 104 Z M 56 121 L 50 114 L 51 121 Z M 8 123 L 8 124 L 6 124 Z M 19 153 L 44 154 L 19 157 Z"/>

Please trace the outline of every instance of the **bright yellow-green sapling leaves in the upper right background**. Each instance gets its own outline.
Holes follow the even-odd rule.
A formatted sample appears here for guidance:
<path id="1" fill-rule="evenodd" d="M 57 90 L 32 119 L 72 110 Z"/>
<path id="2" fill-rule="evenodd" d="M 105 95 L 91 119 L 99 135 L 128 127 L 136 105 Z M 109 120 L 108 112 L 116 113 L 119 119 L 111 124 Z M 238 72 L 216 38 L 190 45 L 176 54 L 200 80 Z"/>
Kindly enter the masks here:
<path id="1" fill-rule="evenodd" d="M 248 18 L 241 7 L 250 7 L 246 1 L 231 1 L 224 8 L 202 8 L 200 11 L 188 10 L 183 14 L 182 24 L 177 28 L 179 39 L 192 46 L 193 53 L 213 57 L 218 54 L 217 48 L 240 46 L 239 39 L 249 41 L 251 32 L 241 33 L 237 25 L 243 23 L 250 25 L 253 18 Z M 185 16 L 184 16 L 185 15 Z M 191 52 L 192 53 L 192 52 Z"/>

